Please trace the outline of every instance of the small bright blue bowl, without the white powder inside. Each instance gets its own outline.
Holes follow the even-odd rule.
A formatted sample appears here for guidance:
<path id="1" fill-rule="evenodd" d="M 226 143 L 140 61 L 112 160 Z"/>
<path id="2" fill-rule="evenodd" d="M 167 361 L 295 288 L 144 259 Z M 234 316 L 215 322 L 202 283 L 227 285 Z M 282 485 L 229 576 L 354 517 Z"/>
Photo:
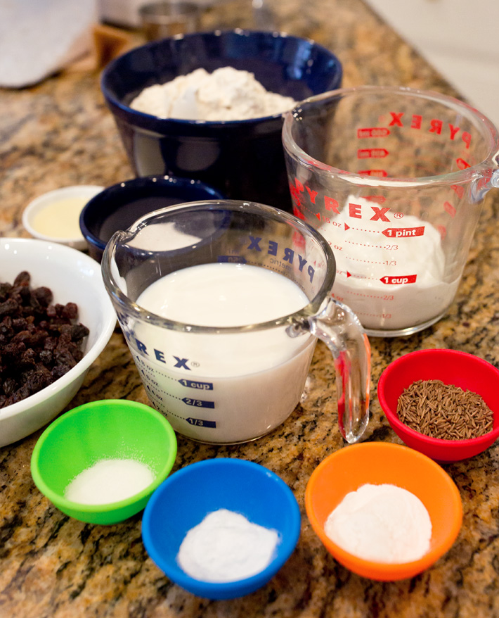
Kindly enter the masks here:
<path id="1" fill-rule="evenodd" d="M 179 548 L 193 526 L 221 508 L 278 531 L 276 553 L 266 569 L 247 579 L 220 584 L 193 579 L 176 561 Z M 171 581 L 200 597 L 230 599 L 256 591 L 278 572 L 298 542 L 300 525 L 297 500 L 277 474 L 254 462 L 216 458 L 188 465 L 163 481 L 145 508 L 142 538 Z"/>

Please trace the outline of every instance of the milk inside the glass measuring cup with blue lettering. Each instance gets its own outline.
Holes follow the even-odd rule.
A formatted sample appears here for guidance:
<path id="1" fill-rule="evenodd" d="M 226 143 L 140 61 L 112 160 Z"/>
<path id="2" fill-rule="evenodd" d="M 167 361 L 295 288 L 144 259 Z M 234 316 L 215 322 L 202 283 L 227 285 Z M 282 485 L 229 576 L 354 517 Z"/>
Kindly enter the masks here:
<path id="1" fill-rule="evenodd" d="M 141 307 L 183 324 L 238 327 L 290 315 L 309 303 L 287 277 L 262 267 L 212 263 L 158 279 Z M 148 396 L 177 431 L 236 443 L 283 422 L 304 388 L 316 339 L 285 327 L 207 334 L 136 326 L 125 335 Z"/>

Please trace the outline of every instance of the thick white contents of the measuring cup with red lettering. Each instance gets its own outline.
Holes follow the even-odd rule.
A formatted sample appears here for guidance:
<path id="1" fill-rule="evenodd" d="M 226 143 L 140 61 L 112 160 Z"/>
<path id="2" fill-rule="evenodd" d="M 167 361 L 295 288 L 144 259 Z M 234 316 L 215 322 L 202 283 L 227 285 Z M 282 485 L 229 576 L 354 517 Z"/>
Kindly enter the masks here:
<path id="1" fill-rule="evenodd" d="M 366 222 L 351 216 L 350 208 L 370 204 L 349 196 L 339 215 L 318 227 L 335 252 L 332 296 L 354 308 L 367 329 L 432 320 L 448 308 L 459 284 L 445 281 L 439 232 L 414 215 L 405 215 L 398 227 L 382 218 Z"/>

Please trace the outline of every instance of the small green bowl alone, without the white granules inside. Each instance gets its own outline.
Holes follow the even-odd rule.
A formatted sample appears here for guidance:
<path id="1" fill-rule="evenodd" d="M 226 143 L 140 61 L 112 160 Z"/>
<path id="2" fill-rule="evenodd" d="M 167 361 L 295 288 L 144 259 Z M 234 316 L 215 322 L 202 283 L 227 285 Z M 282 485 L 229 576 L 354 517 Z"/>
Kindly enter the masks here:
<path id="1" fill-rule="evenodd" d="M 80 405 L 50 424 L 32 458 L 34 483 L 66 515 L 91 524 L 115 524 L 135 515 L 167 478 L 176 457 L 176 436 L 167 419 L 148 405 L 105 399 Z M 82 504 L 64 497 L 84 469 L 102 459 L 135 459 L 153 471 L 154 481 L 131 498 Z"/>

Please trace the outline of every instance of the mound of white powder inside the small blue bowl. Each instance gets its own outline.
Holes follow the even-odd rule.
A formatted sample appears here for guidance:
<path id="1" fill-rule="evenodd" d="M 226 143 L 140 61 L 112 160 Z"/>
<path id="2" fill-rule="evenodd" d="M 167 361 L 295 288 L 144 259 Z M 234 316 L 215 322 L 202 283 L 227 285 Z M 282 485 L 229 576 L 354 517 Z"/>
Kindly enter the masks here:
<path id="1" fill-rule="evenodd" d="M 219 509 L 188 531 L 177 561 L 188 575 L 201 581 L 238 581 L 263 571 L 278 541 L 276 530 Z"/>

